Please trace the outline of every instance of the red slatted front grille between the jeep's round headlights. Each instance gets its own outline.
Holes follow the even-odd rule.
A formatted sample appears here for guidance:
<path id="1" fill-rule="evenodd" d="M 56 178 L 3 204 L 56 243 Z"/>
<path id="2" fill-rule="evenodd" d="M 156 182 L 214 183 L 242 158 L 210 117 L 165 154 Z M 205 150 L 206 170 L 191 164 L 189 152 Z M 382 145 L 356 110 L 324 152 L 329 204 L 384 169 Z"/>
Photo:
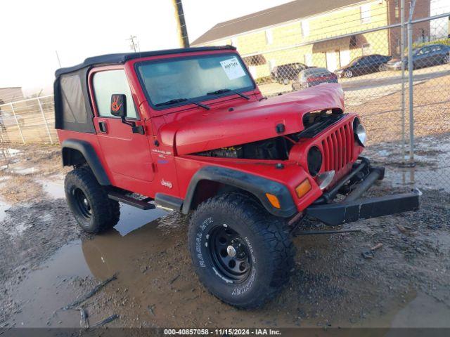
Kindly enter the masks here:
<path id="1" fill-rule="evenodd" d="M 345 168 L 352 161 L 353 147 L 352 121 L 348 121 L 322 140 L 325 171 L 335 170 L 338 173 Z"/>

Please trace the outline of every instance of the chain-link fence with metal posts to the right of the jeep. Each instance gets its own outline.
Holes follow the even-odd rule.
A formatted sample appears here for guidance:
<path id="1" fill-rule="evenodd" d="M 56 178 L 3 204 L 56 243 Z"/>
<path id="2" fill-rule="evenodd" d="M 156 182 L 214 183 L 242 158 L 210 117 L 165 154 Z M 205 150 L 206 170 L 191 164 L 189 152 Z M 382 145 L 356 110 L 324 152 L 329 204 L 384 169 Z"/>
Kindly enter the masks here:
<path id="1" fill-rule="evenodd" d="M 257 32 L 246 44 L 234 39 L 234 44 L 264 95 L 340 83 L 347 112 L 361 115 L 368 131 L 365 155 L 387 166 L 393 183 L 450 191 L 449 7 L 439 13 L 434 6 L 437 15 L 426 18 L 420 14 L 430 14 L 430 1 L 416 5 L 419 15 L 398 8 L 400 18 L 404 11 L 403 25 L 386 25 L 372 10 L 371 25 L 364 26 L 364 13 L 353 13 L 340 18 L 347 22 L 345 34 L 330 34 L 342 29 L 321 22 L 326 33 L 301 44 L 293 41 L 304 41 L 303 22 Z"/>

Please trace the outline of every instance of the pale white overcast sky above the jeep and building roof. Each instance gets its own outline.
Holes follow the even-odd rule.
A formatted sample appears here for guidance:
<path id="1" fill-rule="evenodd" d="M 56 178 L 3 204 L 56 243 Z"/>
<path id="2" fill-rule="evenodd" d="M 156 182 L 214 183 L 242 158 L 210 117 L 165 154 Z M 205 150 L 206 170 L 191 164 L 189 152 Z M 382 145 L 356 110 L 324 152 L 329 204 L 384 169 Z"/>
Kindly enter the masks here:
<path id="1" fill-rule="evenodd" d="M 218 22 L 290 0 L 183 0 L 189 39 Z M 172 0 L 3 0 L 0 15 L 0 88 L 25 95 L 51 93 L 54 72 L 104 53 L 179 48 Z"/>

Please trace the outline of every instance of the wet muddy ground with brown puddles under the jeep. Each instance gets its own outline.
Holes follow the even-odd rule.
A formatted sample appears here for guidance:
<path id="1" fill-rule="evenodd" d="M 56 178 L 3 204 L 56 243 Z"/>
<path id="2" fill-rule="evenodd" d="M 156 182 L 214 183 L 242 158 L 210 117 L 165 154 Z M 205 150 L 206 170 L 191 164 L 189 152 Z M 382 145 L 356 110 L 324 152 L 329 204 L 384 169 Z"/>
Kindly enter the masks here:
<path id="1" fill-rule="evenodd" d="M 389 150 L 369 153 L 381 160 Z M 198 282 L 186 217 L 122 205 L 113 230 L 82 234 L 63 199 L 58 147 L 1 153 L 0 326 L 79 327 L 77 308 L 91 325 L 117 315 L 106 325 L 125 327 L 450 326 L 450 194 L 439 186 L 423 190 L 418 212 L 341 226 L 361 232 L 296 237 L 288 286 L 264 308 L 245 311 Z M 370 194 L 409 188 L 396 162 Z M 425 174 L 425 166 L 417 169 Z M 303 228 L 325 229 L 312 221 Z M 113 275 L 75 309 L 61 310 Z"/>

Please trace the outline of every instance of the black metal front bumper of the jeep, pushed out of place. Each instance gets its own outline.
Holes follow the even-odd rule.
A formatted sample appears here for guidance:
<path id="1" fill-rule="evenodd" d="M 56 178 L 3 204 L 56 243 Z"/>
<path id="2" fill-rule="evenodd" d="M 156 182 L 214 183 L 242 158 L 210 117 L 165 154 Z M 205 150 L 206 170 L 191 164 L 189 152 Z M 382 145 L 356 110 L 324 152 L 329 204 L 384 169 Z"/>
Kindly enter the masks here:
<path id="1" fill-rule="evenodd" d="M 367 174 L 354 185 L 352 192 L 347 194 L 343 201 L 330 203 L 330 199 L 333 199 L 338 191 L 345 188 L 347 182 L 357 179 L 358 175 L 363 174 L 364 171 Z M 383 177 L 384 168 L 373 167 L 367 159 L 361 158 L 361 163 L 357 164 L 348 176 L 342 178 L 332 190 L 309 206 L 305 213 L 321 220 L 326 225 L 334 226 L 419 209 L 422 193 L 418 189 L 410 193 L 360 199 L 361 194 L 366 192 L 376 180 L 381 180 Z"/>

